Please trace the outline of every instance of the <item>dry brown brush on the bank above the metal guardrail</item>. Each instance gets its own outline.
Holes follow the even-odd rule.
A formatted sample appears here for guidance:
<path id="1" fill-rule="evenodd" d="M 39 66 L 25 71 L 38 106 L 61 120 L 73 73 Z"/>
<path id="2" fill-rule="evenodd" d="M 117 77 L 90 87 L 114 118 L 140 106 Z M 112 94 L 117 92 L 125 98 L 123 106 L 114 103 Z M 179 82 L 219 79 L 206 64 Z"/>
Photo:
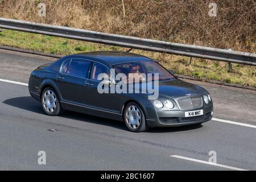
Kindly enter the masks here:
<path id="1" fill-rule="evenodd" d="M 208 15 L 212 0 L 2 0 L 0 16 L 255 52 L 256 15 L 254 0 L 216 0 L 217 16 Z M 38 16 L 38 4 L 46 3 L 46 17 Z"/>

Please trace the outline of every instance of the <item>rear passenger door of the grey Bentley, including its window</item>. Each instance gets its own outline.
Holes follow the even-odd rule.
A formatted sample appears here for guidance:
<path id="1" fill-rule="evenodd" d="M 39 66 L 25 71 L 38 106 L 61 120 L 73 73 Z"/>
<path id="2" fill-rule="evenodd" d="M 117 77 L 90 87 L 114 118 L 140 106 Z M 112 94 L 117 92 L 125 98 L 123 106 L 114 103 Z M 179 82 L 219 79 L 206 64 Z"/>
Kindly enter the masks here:
<path id="1" fill-rule="evenodd" d="M 57 84 L 63 101 L 84 104 L 85 82 L 91 61 L 85 59 L 69 59 L 61 65 L 57 75 Z"/>

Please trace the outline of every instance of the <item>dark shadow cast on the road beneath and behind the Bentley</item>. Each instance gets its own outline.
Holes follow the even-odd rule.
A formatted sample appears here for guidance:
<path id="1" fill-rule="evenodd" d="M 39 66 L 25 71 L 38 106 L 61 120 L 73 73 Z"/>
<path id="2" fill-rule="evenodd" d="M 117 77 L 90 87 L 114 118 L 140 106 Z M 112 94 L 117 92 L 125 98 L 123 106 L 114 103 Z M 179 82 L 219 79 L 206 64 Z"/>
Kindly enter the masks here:
<path id="1" fill-rule="evenodd" d="M 24 110 L 32 111 L 34 113 L 46 115 L 42 109 L 40 102 L 34 100 L 34 98 L 32 97 L 10 98 L 8 100 L 3 101 L 3 103 L 13 107 L 18 107 L 19 109 L 24 109 Z M 63 115 L 60 115 L 59 117 L 75 119 L 77 121 L 82 121 L 82 122 L 90 122 L 97 125 L 115 127 L 120 130 L 126 130 L 126 131 L 128 130 L 123 122 L 115 121 L 112 119 L 100 118 L 100 117 L 96 117 L 88 114 L 76 113 L 73 111 L 66 110 L 65 113 Z M 195 129 L 199 129 L 200 127 L 202 127 L 202 125 L 183 126 L 183 127 L 158 127 L 158 128 L 153 128 L 148 130 L 147 133 L 167 133 L 167 132 L 195 130 Z"/>

